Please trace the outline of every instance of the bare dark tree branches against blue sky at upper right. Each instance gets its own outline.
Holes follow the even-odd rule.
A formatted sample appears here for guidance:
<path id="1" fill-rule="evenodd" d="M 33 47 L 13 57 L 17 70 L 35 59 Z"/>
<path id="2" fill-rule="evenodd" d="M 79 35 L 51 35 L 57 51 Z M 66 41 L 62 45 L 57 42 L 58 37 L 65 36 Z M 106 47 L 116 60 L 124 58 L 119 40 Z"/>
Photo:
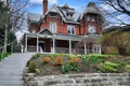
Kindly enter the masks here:
<path id="1" fill-rule="evenodd" d="M 130 25 L 130 0 L 101 0 L 101 9 L 105 13 L 105 17 L 108 19 L 114 18 L 113 24 Z M 108 11 L 104 6 L 108 5 Z M 113 9 L 113 10 L 112 10 Z M 123 17 L 123 18 L 119 18 Z M 126 19 L 126 20 L 125 20 Z"/>

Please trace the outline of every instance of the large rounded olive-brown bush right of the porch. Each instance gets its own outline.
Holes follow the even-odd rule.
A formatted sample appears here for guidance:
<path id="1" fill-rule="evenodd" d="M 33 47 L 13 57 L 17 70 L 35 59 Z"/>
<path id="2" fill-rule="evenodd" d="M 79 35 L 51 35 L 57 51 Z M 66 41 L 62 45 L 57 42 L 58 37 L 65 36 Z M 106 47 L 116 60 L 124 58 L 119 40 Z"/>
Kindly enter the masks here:
<path id="1" fill-rule="evenodd" d="M 130 33 L 125 31 L 113 31 L 101 38 L 102 46 L 108 47 L 110 54 L 130 54 Z M 112 47 L 113 46 L 113 47 Z M 107 48 L 104 49 L 106 51 Z M 106 54 L 109 54 L 106 52 Z"/>

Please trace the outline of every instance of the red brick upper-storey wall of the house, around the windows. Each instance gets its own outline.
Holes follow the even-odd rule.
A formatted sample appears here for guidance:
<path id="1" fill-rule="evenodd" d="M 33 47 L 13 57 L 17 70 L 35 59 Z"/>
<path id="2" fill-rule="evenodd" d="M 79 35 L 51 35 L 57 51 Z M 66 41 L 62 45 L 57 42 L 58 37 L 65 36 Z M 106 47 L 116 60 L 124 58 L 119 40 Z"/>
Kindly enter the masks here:
<path id="1" fill-rule="evenodd" d="M 89 32 L 88 32 L 89 25 L 94 25 L 96 27 L 98 34 L 102 33 L 102 23 L 100 20 L 88 22 L 86 19 L 86 16 L 87 15 L 84 15 L 84 17 L 82 17 L 82 19 L 80 20 L 80 24 L 68 24 L 68 23 L 64 23 L 61 17 L 57 18 L 57 17 L 46 16 L 43 18 L 39 29 L 42 30 L 44 28 L 50 28 L 50 22 L 55 22 L 57 33 L 67 34 L 67 25 L 75 26 L 76 35 L 89 34 Z M 31 32 L 34 29 L 36 29 L 36 32 L 39 31 L 38 26 L 36 24 L 30 25 L 29 31 Z"/>

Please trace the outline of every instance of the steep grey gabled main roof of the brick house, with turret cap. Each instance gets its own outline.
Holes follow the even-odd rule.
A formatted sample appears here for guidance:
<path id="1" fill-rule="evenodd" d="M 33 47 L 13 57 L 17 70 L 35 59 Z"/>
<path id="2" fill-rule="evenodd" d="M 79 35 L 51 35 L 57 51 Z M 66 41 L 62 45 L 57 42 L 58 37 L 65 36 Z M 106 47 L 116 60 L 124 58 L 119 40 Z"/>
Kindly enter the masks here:
<path id="1" fill-rule="evenodd" d="M 77 12 L 75 9 L 70 8 L 68 4 L 64 4 L 63 6 L 53 4 L 44 15 L 28 13 L 28 19 L 31 22 L 39 22 L 39 20 L 41 22 L 50 12 L 58 13 L 65 23 L 72 23 L 72 24 L 80 24 L 79 22 L 86 13 L 102 15 L 100 9 L 95 5 L 95 3 L 90 2 L 87 5 L 83 13 Z"/>

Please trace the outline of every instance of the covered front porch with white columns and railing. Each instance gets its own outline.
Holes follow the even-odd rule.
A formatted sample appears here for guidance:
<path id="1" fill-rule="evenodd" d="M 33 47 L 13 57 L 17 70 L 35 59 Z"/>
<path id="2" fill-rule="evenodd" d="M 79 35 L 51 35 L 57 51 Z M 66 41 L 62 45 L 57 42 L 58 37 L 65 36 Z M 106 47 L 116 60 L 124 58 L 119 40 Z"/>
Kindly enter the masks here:
<path id="1" fill-rule="evenodd" d="M 48 33 L 48 34 L 47 34 Z M 84 40 L 86 39 L 86 40 Z M 60 54 L 101 54 L 101 45 L 89 37 L 61 35 L 46 32 L 25 34 L 24 52 Z"/>

